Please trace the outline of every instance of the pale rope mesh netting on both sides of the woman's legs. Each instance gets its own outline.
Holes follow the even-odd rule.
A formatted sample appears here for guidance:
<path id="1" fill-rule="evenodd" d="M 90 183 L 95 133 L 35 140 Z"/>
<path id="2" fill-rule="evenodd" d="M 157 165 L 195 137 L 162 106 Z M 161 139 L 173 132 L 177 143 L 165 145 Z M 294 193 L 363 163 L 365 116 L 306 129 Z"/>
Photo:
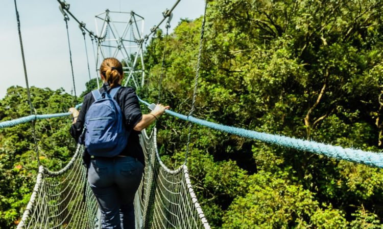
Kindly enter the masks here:
<path id="1" fill-rule="evenodd" d="M 156 129 L 149 137 L 142 131 L 140 144 L 146 167 L 135 196 L 136 228 L 210 228 L 197 202 L 186 165 L 170 170 L 157 151 Z M 60 171 L 39 167 L 37 181 L 20 223 L 21 228 L 97 228 L 97 202 L 89 187 L 83 188 L 86 168 L 77 146 L 70 162 Z M 86 182 L 86 183 L 85 183 Z"/>

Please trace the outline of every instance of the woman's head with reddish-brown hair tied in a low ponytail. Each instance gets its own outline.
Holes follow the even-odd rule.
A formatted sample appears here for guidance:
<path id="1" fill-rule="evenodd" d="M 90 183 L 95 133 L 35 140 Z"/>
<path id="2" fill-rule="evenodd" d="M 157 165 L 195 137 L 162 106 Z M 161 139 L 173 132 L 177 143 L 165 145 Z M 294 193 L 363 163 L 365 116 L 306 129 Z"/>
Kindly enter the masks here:
<path id="1" fill-rule="evenodd" d="M 105 58 L 101 64 L 100 73 L 113 88 L 124 77 L 123 65 L 115 58 Z"/>

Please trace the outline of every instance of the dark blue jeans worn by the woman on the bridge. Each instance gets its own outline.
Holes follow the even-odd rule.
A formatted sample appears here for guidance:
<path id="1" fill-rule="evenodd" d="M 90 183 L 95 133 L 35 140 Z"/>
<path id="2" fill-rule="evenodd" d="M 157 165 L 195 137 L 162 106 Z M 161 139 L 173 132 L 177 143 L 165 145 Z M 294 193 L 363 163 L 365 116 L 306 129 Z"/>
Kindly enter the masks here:
<path id="1" fill-rule="evenodd" d="M 133 200 L 143 167 L 133 157 L 91 159 L 88 182 L 99 203 L 103 229 L 135 228 Z"/>

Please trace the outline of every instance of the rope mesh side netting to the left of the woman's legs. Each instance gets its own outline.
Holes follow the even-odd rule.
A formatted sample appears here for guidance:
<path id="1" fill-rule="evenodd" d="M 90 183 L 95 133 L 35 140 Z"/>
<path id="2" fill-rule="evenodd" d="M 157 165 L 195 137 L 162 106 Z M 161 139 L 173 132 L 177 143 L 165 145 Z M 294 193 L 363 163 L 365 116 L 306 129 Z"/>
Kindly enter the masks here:
<path id="1" fill-rule="evenodd" d="M 95 228 L 97 203 L 90 188 L 86 201 L 82 191 L 86 168 L 82 165 L 84 148 L 77 146 L 70 162 L 60 171 L 39 167 L 35 188 L 17 228 Z"/>

